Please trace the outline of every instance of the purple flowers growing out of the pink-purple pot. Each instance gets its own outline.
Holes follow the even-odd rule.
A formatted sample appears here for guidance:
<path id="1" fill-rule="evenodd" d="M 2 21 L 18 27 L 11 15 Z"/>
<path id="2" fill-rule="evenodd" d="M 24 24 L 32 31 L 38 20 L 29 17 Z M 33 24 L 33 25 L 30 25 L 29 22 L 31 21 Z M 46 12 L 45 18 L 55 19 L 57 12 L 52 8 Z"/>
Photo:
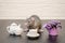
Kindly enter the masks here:
<path id="1" fill-rule="evenodd" d="M 50 20 L 50 22 L 48 22 L 46 25 L 43 25 L 43 27 L 47 28 L 47 29 L 51 29 L 52 26 L 56 26 L 56 28 L 62 28 L 61 22 L 58 22 L 58 20 L 56 20 L 56 19 Z"/>

